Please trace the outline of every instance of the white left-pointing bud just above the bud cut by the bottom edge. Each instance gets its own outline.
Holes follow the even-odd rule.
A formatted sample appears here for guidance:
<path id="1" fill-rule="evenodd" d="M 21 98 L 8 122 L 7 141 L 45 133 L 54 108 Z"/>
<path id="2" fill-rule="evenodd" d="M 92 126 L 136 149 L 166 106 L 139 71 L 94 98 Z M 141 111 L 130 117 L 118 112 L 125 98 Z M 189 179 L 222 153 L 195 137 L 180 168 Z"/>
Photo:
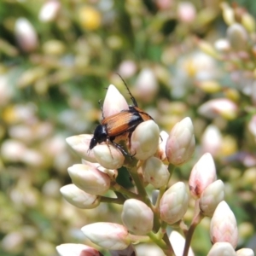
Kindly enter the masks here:
<path id="1" fill-rule="evenodd" d="M 84 226 L 84 235 L 97 246 L 110 250 L 124 250 L 131 243 L 123 225 L 98 222 Z"/>

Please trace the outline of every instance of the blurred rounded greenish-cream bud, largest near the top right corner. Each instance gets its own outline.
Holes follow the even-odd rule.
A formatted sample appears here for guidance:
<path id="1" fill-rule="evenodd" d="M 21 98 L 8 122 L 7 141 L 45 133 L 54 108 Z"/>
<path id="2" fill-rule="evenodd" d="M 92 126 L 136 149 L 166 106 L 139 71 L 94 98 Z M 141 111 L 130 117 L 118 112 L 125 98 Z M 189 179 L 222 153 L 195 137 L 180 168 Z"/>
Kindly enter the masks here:
<path id="1" fill-rule="evenodd" d="M 246 50 L 248 34 L 246 29 L 239 23 L 232 24 L 227 30 L 227 38 L 234 50 Z"/>

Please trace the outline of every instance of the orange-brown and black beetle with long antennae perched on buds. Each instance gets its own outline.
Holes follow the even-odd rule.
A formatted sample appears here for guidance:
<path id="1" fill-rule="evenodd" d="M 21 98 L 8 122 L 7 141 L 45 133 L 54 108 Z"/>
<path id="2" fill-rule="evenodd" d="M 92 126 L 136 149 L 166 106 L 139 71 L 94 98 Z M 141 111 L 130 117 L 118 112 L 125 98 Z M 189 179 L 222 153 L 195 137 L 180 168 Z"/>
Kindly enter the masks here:
<path id="1" fill-rule="evenodd" d="M 122 79 L 120 75 L 119 77 Z M 122 79 L 122 81 L 125 84 L 125 80 Z M 96 126 L 96 130 L 94 131 L 93 137 L 90 140 L 89 150 L 94 148 L 97 143 L 107 142 L 112 143 L 113 146 L 119 148 L 122 154 L 131 156 L 125 152 L 125 149 L 122 148 L 120 144 L 115 143 L 114 139 L 116 137 L 128 135 L 130 140 L 131 134 L 137 125 L 147 120 L 153 120 L 153 118 L 148 113 L 145 113 L 142 109 L 138 108 L 137 102 L 134 96 L 131 95 L 131 91 L 129 90 L 127 84 L 125 84 L 125 87 L 131 96 L 133 105 L 130 105 L 128 109 L 124 109 L 119 113 L 108 116 L 107 118 L 102 116 L 102 122 L 100 125 Z"/>

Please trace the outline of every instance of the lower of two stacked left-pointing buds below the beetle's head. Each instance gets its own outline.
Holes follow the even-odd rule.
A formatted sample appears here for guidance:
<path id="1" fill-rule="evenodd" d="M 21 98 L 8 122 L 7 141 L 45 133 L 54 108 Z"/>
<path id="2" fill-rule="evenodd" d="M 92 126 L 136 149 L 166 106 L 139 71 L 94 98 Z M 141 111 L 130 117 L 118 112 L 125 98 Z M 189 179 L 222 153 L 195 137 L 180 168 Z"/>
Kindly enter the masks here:
<path id="1" fill-rule="evenodd" d="M 101 197 L 97 195 L 91 195 L 84 190 L 79 189 L 74 184 L 68 184 L 61 189 L 61 195 L 73 206 L 81 209 L 92 209 L 97 207 L 101 202 Z"/>

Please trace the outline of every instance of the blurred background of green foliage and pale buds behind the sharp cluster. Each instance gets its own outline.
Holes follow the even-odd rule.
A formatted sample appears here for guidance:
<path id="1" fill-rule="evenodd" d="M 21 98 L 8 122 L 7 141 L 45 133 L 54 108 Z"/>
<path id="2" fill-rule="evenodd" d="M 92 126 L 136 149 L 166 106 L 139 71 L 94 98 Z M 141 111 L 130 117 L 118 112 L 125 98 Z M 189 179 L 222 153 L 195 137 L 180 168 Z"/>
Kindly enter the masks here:
<path id="1" fill-rule="evenodd" d="M 71 183 L 67 167 L 80 161 L 65 138 L 94 131 L 109 84 L 130 101 L 116 73 L 161 130 L 192 119 L 195 157 L 173 182 L 188 181 L 212 150 L 239 247 L 255 248 L 255 15 L 254 1 L 2 0 L 0 254 L 56 255 L 61 243 L 88 242 L 79 231 L 85 224 L 120 221 L 120 207 L 79 210 L 59 192 Z M 233 32 L 234 23 L 241 30 Z M 218 98 L 235 107 L 201 109 Z M 195 255 L 210 249 L 208 229 L 205 219 Z"/>

